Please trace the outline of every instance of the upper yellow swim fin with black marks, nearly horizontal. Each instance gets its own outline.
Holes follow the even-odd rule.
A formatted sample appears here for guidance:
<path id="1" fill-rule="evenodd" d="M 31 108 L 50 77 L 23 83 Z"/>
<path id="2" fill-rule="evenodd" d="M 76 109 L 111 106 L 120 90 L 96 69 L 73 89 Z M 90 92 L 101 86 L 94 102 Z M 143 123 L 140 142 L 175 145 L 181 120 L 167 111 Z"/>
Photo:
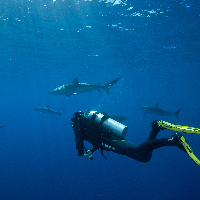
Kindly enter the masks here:
<path id="1" fill-rule="evenodd" d="M 176 131 L 176 132 L 200 134 L 200 129 L 195 128 L 195 127 L 175 125 L 170 122 L 166 122 L 162 120 L 157 121 L 157 124 L 163 128 Z"/>

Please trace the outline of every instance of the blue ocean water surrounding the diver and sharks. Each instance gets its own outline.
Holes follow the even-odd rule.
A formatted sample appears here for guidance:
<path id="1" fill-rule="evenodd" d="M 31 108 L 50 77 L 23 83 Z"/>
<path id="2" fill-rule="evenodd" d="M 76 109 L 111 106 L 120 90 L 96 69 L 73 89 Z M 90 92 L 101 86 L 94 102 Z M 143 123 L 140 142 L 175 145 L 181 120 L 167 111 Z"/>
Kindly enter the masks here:
<path id="1" fill-rule="evenodd" d="M 145 164 L 98 151 L 90 161 L 77 156 L 69 124 L 76 110 L 122 115 L 136 144 L 156 119 L 200 127 L 199 1 L 2 0 L 0 26 L 1 200 L 199 197 L 200 168 L 178 148 Z M 105 85 L 119 76 L 110 95 L 48 94 L 75 77 Z M 181 108 L 179 120 L 140 109 L 156 103 Z M 34 110 L 46 105 L 62 115 Z M 200 137 L 184 137 L 200 156 Z"/>

